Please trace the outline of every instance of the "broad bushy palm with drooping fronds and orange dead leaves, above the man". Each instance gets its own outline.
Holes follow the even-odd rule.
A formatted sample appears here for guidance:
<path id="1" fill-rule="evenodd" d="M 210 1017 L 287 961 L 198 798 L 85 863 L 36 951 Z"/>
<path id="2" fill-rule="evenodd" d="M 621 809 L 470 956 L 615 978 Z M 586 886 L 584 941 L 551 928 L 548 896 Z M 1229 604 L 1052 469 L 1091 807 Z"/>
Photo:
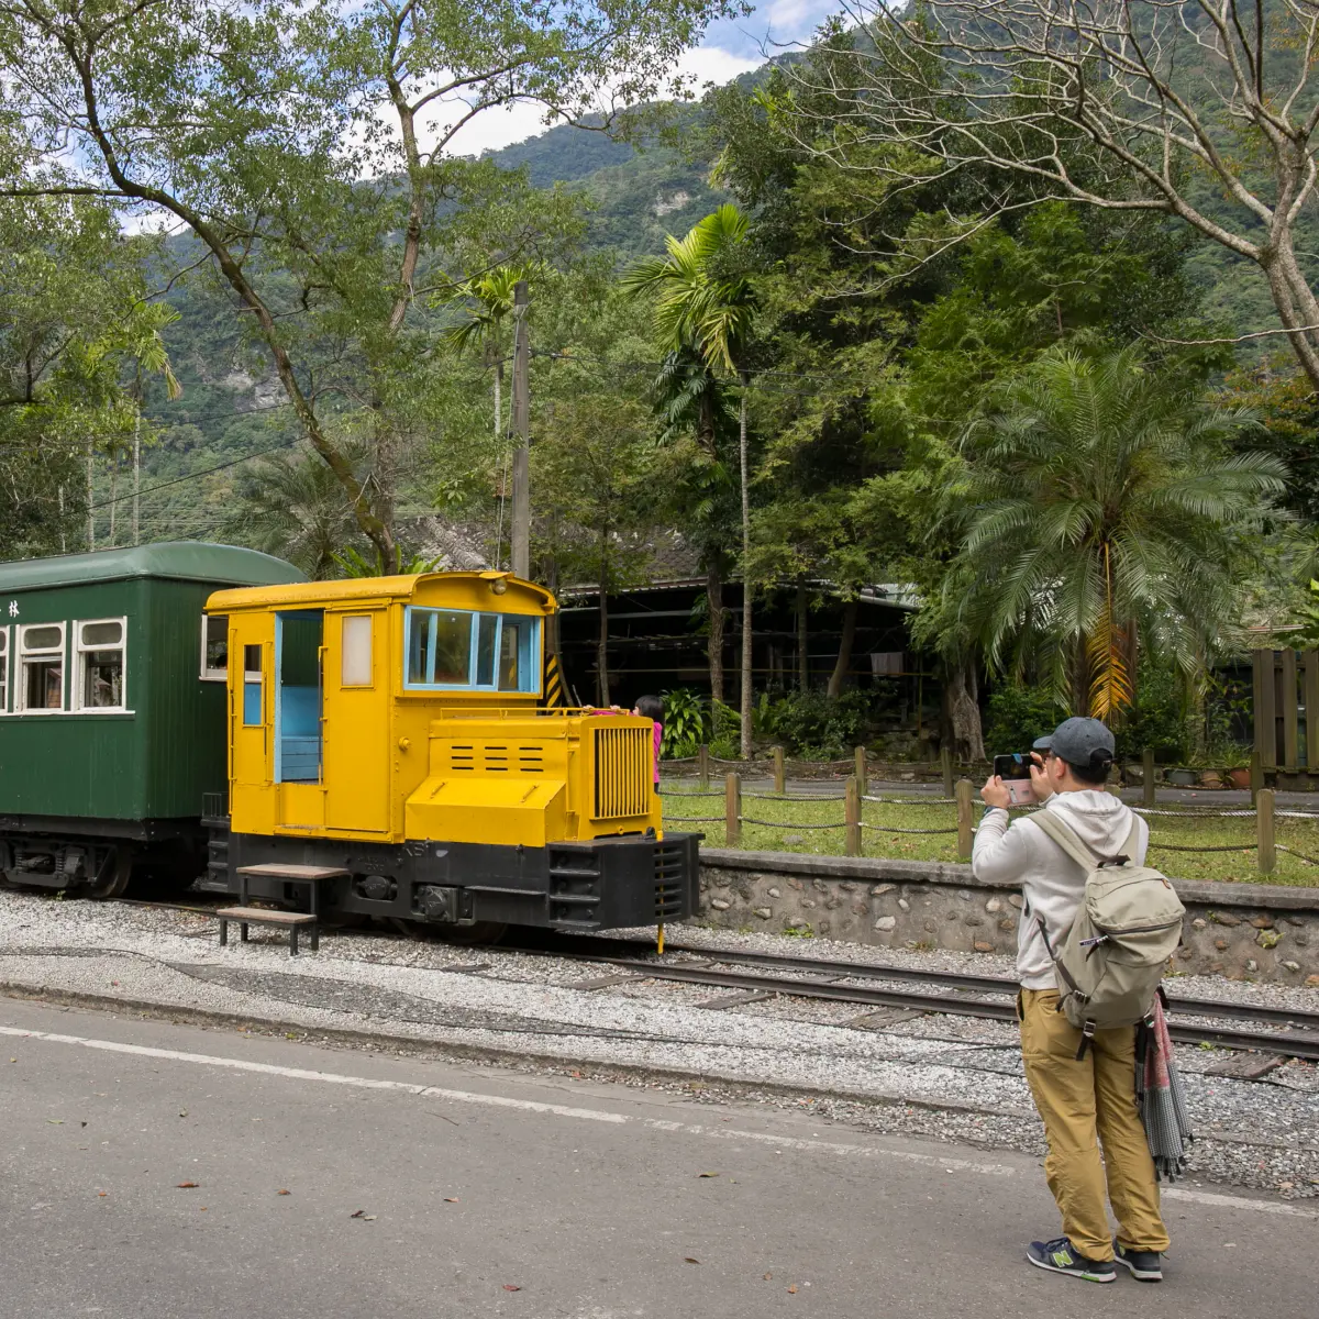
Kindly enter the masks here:
<path id="1" fill-rule="evenodd" d="M 1074 710 L 1121 715 L 1137 641 L 1198 675 L 1236 632 L 1236 568 L 1283 491 L 1266 454 L 1229 451 L 1256 425 L 1140 350 L 1049 353 L 1008 383 L 963 441 L 969 518 L 963 617 L 992 665 Z"/>

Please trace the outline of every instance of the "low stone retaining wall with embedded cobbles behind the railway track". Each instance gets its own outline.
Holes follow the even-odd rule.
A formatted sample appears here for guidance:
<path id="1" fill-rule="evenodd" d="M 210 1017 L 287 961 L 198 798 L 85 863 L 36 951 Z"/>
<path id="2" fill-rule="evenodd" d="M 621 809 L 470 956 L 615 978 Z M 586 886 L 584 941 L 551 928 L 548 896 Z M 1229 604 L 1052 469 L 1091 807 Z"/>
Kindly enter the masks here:
<path id="1" fill-rule="evenodd" d="M 1319 987 L 1319 889 L 1174 880 L 1178 968 Z M 1021 894 L 969 865 L 703 848 L 700 915 L 885 948 L 1017 950 Z"/>

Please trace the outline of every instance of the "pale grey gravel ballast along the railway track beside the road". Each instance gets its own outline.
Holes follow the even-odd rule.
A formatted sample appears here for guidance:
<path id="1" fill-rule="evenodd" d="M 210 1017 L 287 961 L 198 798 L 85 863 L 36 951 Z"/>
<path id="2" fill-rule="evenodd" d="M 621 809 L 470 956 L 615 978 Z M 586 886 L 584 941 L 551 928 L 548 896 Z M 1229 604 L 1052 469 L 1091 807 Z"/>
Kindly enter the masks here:
<path id="1" fill-rule="evenodd" d="M 749 948 L 1012 975 L 1006 958 L 698 927 L 670 934 L 706 956 Z M 892 1024 L 855 1025 L 868 1016 L 864 1006 L 794 998 L 710 1010 L 700 1004 L 736 991 L 644 979 L 578 988 L 608 971 L 571 958 L 332 930 L 318 954 L 290 959 L 282 935 L 256 927 L 253 942 L 219 948 L 216 923 L 204 914 L 0 893 L 0 983 L 15 995 L 375 1037 L 392 1047 L 414 1042 L 505 1064 L 615 1070 L 633 1083 L 689 1088 L 699 1078 L 707 1097 L 765 1095 L 826 1105 L 839 1120 L 872 1129 L 1041 1149 L 1008 1024 L 896 1014 Z M 1170 988 L 1319 1010 L 1319 992 L 1308 989 L 1213 977 L 1177 977 Z M 1194 1177 L 1319 1195 L 1319 1070 L 1293 1062 L 1264 1082 L 1245 1082 L 1207 1075 L 1223 1051 L 1181 1046 L 1178 1057 L 1198 1134 Z"/>

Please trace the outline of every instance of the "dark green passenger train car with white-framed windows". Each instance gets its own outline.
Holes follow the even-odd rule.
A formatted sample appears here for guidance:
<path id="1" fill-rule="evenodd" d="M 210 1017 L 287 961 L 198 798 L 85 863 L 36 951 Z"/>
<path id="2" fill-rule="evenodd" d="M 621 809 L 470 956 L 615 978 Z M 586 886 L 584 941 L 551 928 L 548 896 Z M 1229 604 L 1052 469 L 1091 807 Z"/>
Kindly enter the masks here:
<path id="1" fill-rule="evenodd" d="M 220 587 L 301 582 L 255 550 L 182 541 L 0 563 L 0 872 L 117 897 L 135 868 L 191 882 L 200 803 L 226 791 Z"/>

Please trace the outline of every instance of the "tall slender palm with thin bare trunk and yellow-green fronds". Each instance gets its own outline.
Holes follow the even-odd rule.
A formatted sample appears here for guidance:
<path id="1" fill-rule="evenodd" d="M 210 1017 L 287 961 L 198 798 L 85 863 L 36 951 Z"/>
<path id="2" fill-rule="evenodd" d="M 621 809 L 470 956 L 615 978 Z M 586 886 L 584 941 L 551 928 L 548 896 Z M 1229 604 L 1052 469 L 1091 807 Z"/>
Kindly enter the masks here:
<path id="1" fill-rule="evenodd" d="M 741 754 L 751 757 L 752 733 L 752 582 L 751 479 L 748 471 L 747 394 L 751 376 L 744 353 L 756 314 L 756 293 L 741 273 L 747 264 L 748 222 L 736 206 L 720 206 L 689 230 L 665 239 L 667 256 L 638 262 L 624 276 L 632 293 L 656 293 L 656 331 L 670 355 L 691 352 L 706 369 L 732 372 L 741 384 L 737 458 L 741 476 L 743 649 Z M 712 441 L 711 429 L 710 438 Z M 715 601 L 711 600 L 711 612 Z M 711 636 L 711 652 L 714 652 Z M 711 660 L 714 666 L 714 658 Z M 712 669 L 714 673 L 714 669 Z"/>

